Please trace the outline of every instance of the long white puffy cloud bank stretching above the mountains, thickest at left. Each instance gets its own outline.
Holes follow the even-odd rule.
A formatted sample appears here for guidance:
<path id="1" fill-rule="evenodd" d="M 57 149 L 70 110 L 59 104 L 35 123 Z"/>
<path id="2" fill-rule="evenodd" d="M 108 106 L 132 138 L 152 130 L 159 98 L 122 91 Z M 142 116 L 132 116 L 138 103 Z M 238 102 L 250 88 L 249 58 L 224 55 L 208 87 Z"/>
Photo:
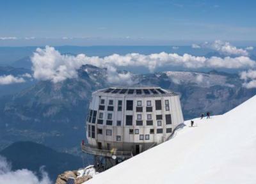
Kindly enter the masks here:
<path id="1" fill-rule="evenodd" d="M 33 77 L 38 80 L 60 82 L 65 79 L 77 77 L 77 69 L 82 65 L 90 64 L 108 68 L 108 80 L 110 82 L 131 80 L 131 73 L 118 73 L 118 66 L 145 66 L 154 72 L 157 67 L 181 66 L 184 68 L 249 68 L 255 67 L 256 63 L 246 56 L 239 57 L 202 57 L 190 54 L 157 54 L 143 55 L 138 53 L 124 56 L 113 54 L 106 57 L 89 57 L 85 54 L 77 56 L 62 55 L 54 47 L 46 46 L 45 49 L 36 49 L 31 57 L 33 63 Z M 116 77 L 116 79 L 115 79 Z"/>

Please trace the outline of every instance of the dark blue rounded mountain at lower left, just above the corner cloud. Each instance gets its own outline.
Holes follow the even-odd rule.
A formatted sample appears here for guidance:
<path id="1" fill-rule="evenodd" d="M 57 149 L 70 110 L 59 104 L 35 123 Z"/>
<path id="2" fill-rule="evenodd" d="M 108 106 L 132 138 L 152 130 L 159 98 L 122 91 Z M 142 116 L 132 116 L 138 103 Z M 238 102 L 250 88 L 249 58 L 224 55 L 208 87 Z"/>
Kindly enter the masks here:
<path id="1" fill-rule="evenodd" d="M 81 157 L 68 153 L 60 153 L 35 142 L 15 142 L 4 150 L 0 155 L 12 164 L 12 169 L 29 169 L 36 174 L 40 167 L 55 181 L 58 174 L 67 170 L 75 170 L 84 167 Z M 88 160 L 84 160 L 88 164 Z"/>

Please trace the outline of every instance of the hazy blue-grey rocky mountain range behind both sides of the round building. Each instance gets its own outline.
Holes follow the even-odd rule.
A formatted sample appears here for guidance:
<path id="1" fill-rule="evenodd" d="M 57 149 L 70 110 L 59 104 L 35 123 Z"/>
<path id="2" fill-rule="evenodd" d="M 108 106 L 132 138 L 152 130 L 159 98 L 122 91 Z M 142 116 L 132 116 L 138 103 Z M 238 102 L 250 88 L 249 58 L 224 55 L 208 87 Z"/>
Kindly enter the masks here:
<path id="1" fill-rule="evenodd" d="M 56 84 L 38 81 L 11 98 L 0 98 L 0 149 L 16 141 L 43 143 L 79 154 L 93 91 L 112 86 L 105 68 L 84 65 L 77 79 Z M 224 72 L 157 72 L 132 74 L 136 84 L 161 86 L 180 94 L 184 118 L 202 112 L 223 114 L 255 95 L 236 74 Z"/>

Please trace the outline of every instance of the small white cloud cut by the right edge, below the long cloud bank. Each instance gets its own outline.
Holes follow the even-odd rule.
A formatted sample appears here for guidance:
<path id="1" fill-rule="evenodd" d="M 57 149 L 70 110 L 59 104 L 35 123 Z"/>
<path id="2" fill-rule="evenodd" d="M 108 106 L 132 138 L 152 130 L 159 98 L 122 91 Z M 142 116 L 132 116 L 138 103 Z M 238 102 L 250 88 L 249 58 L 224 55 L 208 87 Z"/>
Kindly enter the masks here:
<path id="1" fill-rule="evenodd" d="M 244 80 L 244 88 L 256 88 L 256 70 L 241 72 L 240 78 Z"/>

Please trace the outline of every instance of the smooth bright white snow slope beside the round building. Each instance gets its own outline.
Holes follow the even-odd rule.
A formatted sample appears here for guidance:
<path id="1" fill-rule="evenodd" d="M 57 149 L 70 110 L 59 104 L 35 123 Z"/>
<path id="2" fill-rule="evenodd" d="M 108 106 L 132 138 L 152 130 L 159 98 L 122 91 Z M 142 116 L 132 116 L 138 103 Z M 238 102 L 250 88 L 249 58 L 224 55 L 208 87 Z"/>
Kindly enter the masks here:
<path id="1" fill-rule="evenodd" d="M 256 183 L 256 96 L 170 141 L 97 174 L 89 183 Z M 189 121 L 186 121 L 189 125 Z"/>

